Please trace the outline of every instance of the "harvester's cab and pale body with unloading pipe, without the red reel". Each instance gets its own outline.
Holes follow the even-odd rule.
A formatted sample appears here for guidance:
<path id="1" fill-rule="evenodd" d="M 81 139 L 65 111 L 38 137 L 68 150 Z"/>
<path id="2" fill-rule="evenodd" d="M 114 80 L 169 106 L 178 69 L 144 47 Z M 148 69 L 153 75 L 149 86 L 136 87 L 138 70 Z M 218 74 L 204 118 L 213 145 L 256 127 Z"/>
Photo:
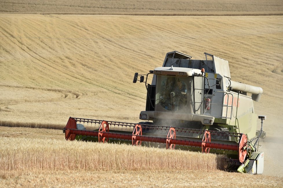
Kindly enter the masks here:
<path id="1" fill-rule="evenodd" d="M 241 130 L 248 138 L 255 137 L 253 100 L 260 99 L 262 89 L 232 81 L 227 60 L 205 56 L 206 60 L 191 60 L 177 51 L 167 53 L 163 67 L 150 71 L 154 76 L 151 84 L 146 83 L 146 111 L 140 119 L 155 125 L 172 122 L 204 130 Z"/>

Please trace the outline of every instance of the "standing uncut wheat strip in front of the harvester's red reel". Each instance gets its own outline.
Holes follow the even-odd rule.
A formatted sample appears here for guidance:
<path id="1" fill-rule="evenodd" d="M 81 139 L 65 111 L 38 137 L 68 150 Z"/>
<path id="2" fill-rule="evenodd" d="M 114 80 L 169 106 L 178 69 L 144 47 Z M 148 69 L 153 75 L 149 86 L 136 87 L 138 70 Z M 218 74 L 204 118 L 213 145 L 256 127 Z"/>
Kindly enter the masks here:
<path id="1" fill-rule="evenodd" d="M 161 148 L 32 138 L 0 139 L 0 168 L 38 170 L 216 171 L 220 156 Z M 19 155 L 20 154 L 20 155 Z M 219 161 L 218 161 L 219 160 Z"/>

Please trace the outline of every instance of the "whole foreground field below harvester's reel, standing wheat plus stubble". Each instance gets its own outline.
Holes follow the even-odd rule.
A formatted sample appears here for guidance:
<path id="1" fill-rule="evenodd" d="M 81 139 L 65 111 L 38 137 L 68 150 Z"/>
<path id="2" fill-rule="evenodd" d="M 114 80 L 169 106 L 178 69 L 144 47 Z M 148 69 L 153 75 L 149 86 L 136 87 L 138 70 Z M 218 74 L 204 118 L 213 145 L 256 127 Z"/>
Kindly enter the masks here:
<path id="1" fill-rule="evenodd" d="M 216 154 L 69 142 L 59 130 L 1 127 L 0 144 L 5 187 L 283 186 L 279 176 L 219 170 Z"/>

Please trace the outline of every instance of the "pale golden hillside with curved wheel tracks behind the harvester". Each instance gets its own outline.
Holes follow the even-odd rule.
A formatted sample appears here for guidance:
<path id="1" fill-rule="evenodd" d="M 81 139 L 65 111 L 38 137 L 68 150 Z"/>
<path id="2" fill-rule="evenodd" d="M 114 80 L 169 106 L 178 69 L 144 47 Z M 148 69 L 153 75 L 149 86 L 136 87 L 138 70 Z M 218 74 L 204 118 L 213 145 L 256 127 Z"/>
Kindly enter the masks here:
<path id="1" fill-rule="evenodd" d="M 133 74 L 161 66 L 173 50 L 228 60 L 233 80 L 263 88 L 256 111 L 282 115 L 282 16 L 1 14 L 0 22 L 5 120 L 23 119 L 19 112 L 36 122 L 135 119 L 146 95 Z"/>

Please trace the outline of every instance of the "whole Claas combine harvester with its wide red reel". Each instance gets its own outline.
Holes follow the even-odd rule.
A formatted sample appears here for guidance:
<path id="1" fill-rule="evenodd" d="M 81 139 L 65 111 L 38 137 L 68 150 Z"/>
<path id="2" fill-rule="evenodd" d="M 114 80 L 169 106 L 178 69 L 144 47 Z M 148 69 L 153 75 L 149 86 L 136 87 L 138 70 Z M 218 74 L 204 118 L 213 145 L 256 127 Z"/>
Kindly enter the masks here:
<path id="1" fill-rule="evenodd" d="M 257 116 L 253 107 L 262 88 L 232 81 L 227 60 L 204 54 L 206 60 L 192 60 L 172 51 L 162 67 L 146 75 L 135 73 L 133 83 L 144 82 L 146 76 L 146 110 L 139 115 L 143 122 L 70 117 L 63 130 L 66 140 L 163 143 L 168 149 L 223 154 L 227 170 L 262 174 L 264 153 L 258 151 L 258 141 L 265 137 L 266 117 Z"/>

